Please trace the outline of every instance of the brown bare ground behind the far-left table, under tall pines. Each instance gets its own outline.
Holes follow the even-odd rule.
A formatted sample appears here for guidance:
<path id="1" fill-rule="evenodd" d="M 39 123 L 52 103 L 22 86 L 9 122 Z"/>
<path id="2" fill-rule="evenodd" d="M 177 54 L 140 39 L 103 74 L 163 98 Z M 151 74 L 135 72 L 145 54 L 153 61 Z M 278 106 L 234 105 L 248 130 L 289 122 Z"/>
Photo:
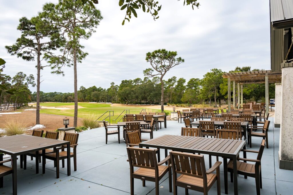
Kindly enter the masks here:
<path id="1" fill-rule="evenodd" d="M 1 115 L 1 113 L 0 113 Z M 62 115 L 55 114 L 40 114 L 40 123 L 45 125 L 45 128 L 42 128 L 44 131 L 55 131 L 60 127 L 64 127 Z M 73 117 L 69 117 L 69 126 L 73 126 Z M 0 129 L 3 129 L 4 124 L 8 120 L 19 121 L 25 124 L 26 127 L 35 126 L 36 119 L 36 111 L 35 110 L 27 110 L 23 111 L 19 114 L 3 114 L 0 116 Z M 81 126 L 81 119 L 78 118 L 77 125 Z M 28 131 L 29 133 L 29 131 Z"/>

